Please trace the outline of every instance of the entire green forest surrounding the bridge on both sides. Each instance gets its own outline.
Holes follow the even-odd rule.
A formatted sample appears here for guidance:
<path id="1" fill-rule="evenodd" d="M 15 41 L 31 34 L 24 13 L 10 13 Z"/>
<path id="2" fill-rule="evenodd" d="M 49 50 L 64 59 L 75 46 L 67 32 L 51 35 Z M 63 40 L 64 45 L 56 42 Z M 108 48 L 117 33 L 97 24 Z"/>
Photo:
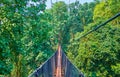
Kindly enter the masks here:
<path id="1" fill-rule="evenodd" d="M 80 4 L 46 0 L 0 0 L 0 77 L 27 77 L 58 47 L 86 77 L 120 76 L 120 0 Z"/>

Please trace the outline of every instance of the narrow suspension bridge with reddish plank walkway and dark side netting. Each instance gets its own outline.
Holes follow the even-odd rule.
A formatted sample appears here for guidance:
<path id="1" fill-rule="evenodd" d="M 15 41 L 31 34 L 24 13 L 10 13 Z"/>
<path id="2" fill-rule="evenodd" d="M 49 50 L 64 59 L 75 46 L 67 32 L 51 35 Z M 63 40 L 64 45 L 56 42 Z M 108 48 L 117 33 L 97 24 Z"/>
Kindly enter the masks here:
<path id="1" fill-rule="evenodd" d="M 57 52 L 28 77 L 84 77 L 68 60 L 61 46 Z"/>

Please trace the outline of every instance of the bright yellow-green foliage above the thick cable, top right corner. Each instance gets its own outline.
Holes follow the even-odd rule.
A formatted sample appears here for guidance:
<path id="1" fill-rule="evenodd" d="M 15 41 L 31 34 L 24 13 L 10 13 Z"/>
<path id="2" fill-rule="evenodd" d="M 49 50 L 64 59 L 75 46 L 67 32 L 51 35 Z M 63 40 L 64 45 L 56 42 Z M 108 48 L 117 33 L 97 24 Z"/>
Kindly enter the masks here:
<path id="1" fill-rule="evenodd" d="M 95 21 L 106 20 L 115 14 L 117 14 L 120 10 L 120 0 L 103 0 L 98 5 L 96 5 L 94 10 Z M 113 24 L 119 23 L 120 18 L 117 18 L 113 21 Z"/>

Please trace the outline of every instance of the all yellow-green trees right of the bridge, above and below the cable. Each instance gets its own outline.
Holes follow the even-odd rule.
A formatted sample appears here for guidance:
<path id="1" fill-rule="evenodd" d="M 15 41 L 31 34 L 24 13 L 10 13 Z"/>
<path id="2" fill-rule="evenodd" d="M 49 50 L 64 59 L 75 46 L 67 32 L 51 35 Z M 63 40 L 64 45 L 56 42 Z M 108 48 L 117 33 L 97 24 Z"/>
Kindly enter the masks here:
<path id="1" fill-rule="evenodd" d="M 111 3 L 114 1 L 107 1 L 108 3 Z M 119 1 L 118 1 L 119 3 Z M 112 4 L 112 6 L 105 6 L 105 2 L 100 2 L 95 6 L 93 19 L 94 22 L 91 24 L 88 24 L 88 26 L 84 27 L 84 32 L 77 33 L 75 35 L 75 41 L 71 41 L 71 48 L 76 50 L 76 52 L 70 52 L 73 53 L 74 56 L 72 56 L 72 62 L 81 69 L 86 76 L 92 76 L 92 77 L 117 77 L 119 76 L 119 70 L 116 69 L 119 68 L 119 35 L 120 35 L 120 27 L 119 27 L 119 18 L 113 20 L 111 23 L 105 25 L 105 27 L 101 27 L 96 32 L 93 32 L 89 34 L 88 36 L 79 39 L 81 35 L 89 31 L 90 29 L 94 28 L 96 24 L 99 24 L 101 21 L 108 19 L 109 17 L 112 17 L 116 13 L 118 13 L 119 8 L 116 8 Z M 113 6 L 114 5 L 114 6 Z M 111 14 L 108 14 L 108 7 L 109 9 L 116 8 L 116 12 L 113 12 L 114 10 L 109 12 Z M 106 10 L 105 10 L 106 9 Z M 78 40 L 79 39 L 79 40 Z M 78 42 L 79 41 L 79 42 Z M 78 48 L 77 48 L 78 47 Z M 71 54 L 68 56 L 71 57 Z M 73 55 L 72 54 L 72 55 Z"/>

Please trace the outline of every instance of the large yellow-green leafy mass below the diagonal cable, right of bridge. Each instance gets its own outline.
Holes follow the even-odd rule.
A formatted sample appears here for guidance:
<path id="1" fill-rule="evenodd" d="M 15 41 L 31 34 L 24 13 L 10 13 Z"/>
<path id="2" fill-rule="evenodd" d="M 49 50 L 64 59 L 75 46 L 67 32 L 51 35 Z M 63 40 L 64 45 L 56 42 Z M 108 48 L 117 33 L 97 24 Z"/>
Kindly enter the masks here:
<path id="1" fill-rule="evenodd" d="M 80 41 L 76 65 L 81 68 L 86 76 L 96 77 L 118 76 L 114 65 L 119 63 L 119 33 L 118 26 L 106 25 L 105 28 L 94 32 Z M 79 60 L 81 63 L 79 63 Z M 113 66 L 113 69 L 111 68 Z"/>

